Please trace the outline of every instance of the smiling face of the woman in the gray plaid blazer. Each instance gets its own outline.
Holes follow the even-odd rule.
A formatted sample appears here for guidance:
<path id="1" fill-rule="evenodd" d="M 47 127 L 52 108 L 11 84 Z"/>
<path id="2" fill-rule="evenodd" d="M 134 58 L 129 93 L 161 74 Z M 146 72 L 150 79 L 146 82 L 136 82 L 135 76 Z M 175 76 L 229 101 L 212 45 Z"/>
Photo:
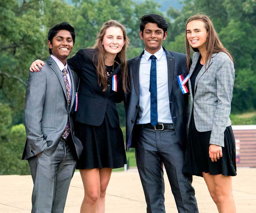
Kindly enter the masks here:
<path id="1" fill-rule="evenodd" d="M 203 21 L 193 20 L 187 24 L 186 36 L 191 47 L 206 50 L 207 30 Z"/>

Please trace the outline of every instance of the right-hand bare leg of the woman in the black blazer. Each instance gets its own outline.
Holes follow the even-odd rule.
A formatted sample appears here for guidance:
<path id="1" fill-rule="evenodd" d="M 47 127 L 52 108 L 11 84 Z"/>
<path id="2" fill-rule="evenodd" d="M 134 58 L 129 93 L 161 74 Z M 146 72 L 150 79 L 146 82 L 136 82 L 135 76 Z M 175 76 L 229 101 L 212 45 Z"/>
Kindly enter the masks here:
<path id="1" fill-rule="evenodd" d="M 99 169 L 100 196 L 99 196 L 99 202 L 98 202 L 97 208 L 96 208 L 97 213 L 105 212 L 105 196 L 106 196 L 106 190 L 107 190 L 108 183 L 110 180 L 111 172 L 112 172 L 112 168 Z"/>

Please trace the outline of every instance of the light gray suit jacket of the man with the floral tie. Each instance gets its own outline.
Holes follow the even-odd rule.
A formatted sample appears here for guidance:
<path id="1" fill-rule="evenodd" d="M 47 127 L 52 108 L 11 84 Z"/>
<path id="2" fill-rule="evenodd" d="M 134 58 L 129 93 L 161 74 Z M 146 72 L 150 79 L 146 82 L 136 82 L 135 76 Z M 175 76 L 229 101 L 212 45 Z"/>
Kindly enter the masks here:
<path id="1" fill-rule="evenodd" d="M 26 91 L 24 123 L 27 140 L 22 159 L 28 159 L 44 152 L 52 155 L 70 120 L 72 142 L 77 158 L 83 146 L 74 135 L 71 114 L 74 111 L 75 92 L 79 78 L 71 69 L 72 99 L 68 106 L 66 86 L 58 65 L 49 57 L 40 72 L 30 73 Z"/>

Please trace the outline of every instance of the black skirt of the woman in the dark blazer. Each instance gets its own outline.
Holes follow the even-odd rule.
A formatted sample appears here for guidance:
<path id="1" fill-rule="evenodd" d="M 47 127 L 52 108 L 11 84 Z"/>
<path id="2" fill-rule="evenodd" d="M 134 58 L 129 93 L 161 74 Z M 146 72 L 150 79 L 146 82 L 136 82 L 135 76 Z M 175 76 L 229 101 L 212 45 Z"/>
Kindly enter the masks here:
<path id="1" fill-rule="evenodd" d="M 100 126 L 75 122 L 75 135 L 83 144 L 77 169 L 121 168 L 126 164 L 122 130 L 112 128 L 106 114 Z"/>

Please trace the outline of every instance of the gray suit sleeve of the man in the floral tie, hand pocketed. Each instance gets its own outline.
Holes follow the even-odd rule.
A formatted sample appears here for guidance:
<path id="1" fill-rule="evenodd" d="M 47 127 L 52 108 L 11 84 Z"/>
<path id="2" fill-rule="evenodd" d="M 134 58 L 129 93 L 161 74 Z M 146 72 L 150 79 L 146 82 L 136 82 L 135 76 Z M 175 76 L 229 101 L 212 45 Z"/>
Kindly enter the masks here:
<path id="1" fill-rule="evenodd" d="M 30 146 L 35 155 L 41 153 L 47 147 L 42 131 L 45 93 L 45 71 L 30 73 L 26 91 L 24 124 L 26 128 L 28 146 Z"/>

